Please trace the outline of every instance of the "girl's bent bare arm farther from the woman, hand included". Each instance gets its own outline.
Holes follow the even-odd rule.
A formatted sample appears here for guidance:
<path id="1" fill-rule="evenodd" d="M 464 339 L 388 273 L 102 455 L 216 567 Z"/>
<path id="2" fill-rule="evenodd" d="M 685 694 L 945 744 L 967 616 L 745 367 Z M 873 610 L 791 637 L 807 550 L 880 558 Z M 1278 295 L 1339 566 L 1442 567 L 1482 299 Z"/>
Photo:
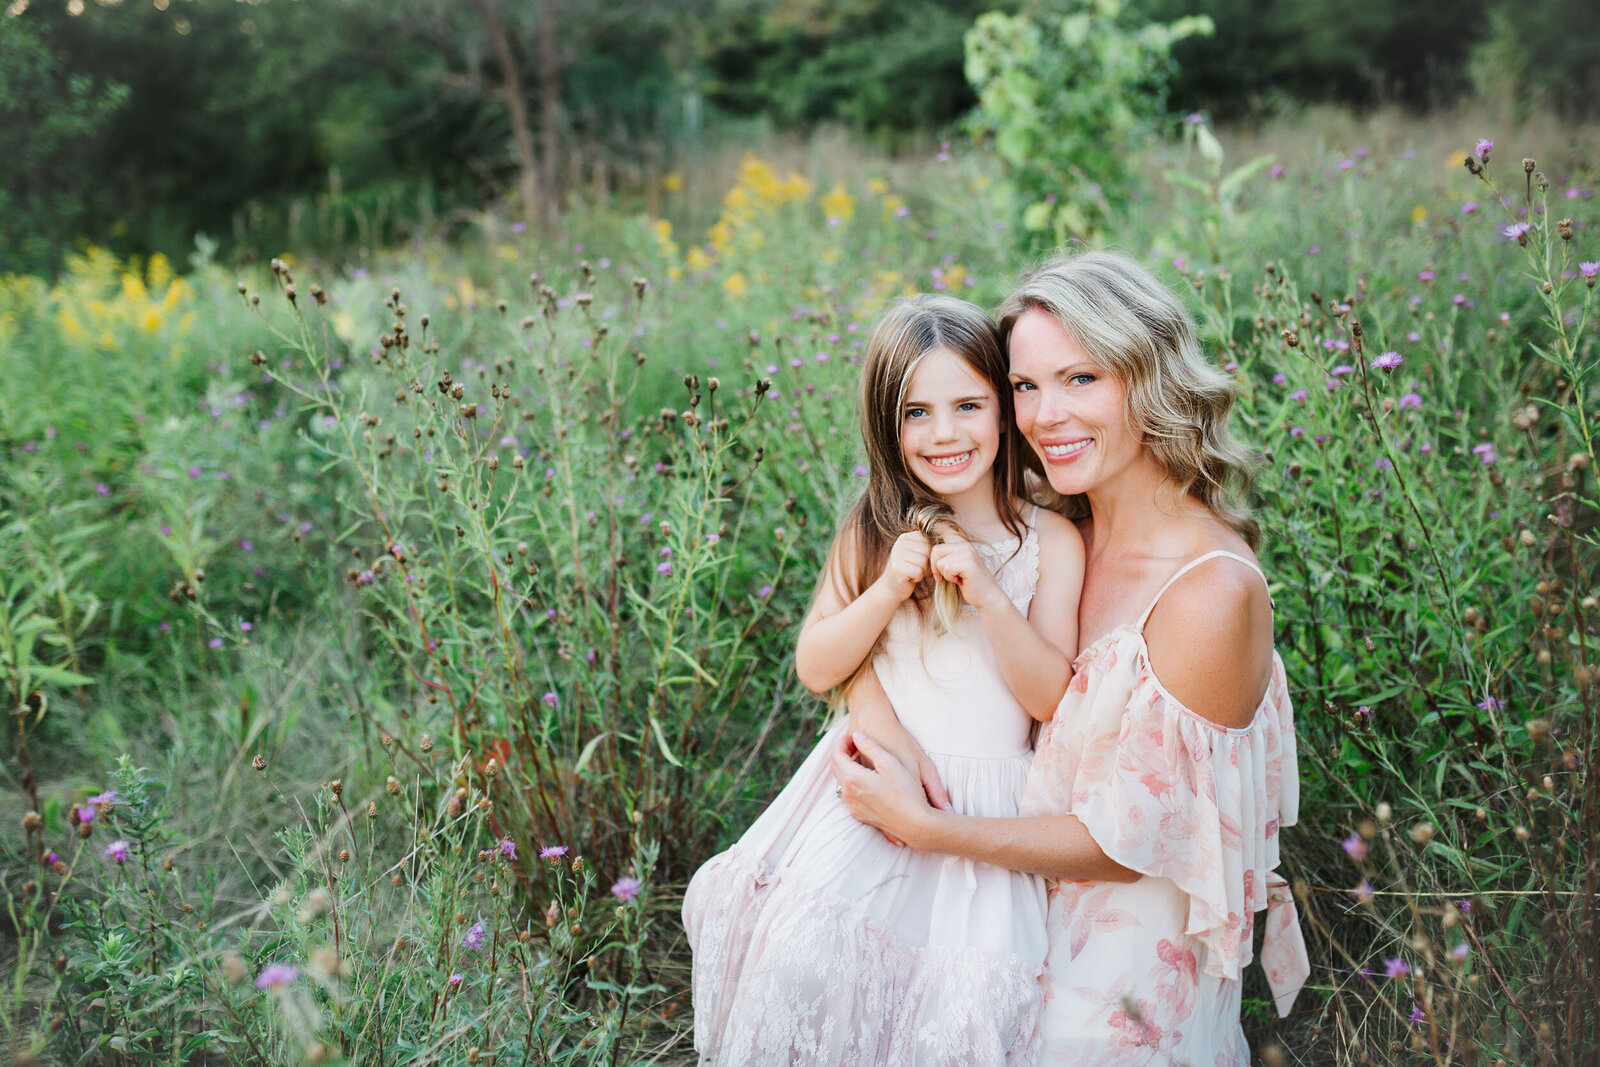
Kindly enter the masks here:
<path id="1" fill-rule="evenodd" d="M 861 667 L 883 627 L 928 573 L 928 539 L 915 531 L 901 534 L 883 573 L 850 600 L 845 576 L 854 569 L 856 555 L 850 537 L 850 531 L 840 533 L 795 643 L 795 673 L 813 693 L 827 693 Z"/>

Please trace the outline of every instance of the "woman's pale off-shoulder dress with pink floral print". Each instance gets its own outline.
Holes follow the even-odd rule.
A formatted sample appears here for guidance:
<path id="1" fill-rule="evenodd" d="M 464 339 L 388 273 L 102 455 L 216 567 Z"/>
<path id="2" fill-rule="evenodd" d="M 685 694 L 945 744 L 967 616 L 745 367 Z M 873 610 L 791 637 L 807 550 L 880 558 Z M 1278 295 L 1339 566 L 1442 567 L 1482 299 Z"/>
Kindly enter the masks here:
<path id="1" fill-rule="evenodd" d="M 1259 574 L 1210 552 L 1162 593 L 1216 557 Z M 1256 912 L 1267 912 L 1262 966 L 1280 1013 L 1309 973 L 1275 872 L 1278 830 L 1299 805 L 1283 662 L 1274 654 L 1248 726 L 1216 726 L 1152 673 L 1154 608 L 1078 653 L 1027 779 L 1022 814 L 1072 813 L 1110 859 L 1144 875 L 1050 881 L 1045 1067 L 1248 1064 L 1238 992 Z"/>

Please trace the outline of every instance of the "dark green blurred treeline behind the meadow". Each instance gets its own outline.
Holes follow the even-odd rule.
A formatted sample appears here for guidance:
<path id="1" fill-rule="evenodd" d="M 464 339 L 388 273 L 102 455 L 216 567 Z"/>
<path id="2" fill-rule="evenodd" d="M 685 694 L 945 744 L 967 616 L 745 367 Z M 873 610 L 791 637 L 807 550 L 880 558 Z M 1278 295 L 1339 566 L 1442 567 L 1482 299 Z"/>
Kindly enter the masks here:
<path id="1" fill-rule="evenodd" d="M 1594 0 L 1138 2 L 1214 19 L 1171 99 L 1218 118 L 1600 99 Z M 82 240 L 371 248 L 496 197 L 550 222 L 752 126 L 914 142 L 971 106 L 979 13 L 1093 0 L 0 3 L 0 270 L 50 272 Z"/>

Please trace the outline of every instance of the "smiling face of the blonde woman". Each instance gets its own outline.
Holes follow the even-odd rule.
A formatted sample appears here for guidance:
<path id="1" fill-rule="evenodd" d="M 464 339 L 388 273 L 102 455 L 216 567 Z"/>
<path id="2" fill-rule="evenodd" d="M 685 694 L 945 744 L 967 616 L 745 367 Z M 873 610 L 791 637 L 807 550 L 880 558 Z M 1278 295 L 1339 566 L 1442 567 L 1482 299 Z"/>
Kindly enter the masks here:
<path id="1" fill-rule="evenodd" d="M 1146 456 L 1128 426 L 1122 381 L 1085 355 L 1054 318 L 1022 312 L 1008 355 L 1016 426 L 1056 493 L 1088 493 Z"/>

